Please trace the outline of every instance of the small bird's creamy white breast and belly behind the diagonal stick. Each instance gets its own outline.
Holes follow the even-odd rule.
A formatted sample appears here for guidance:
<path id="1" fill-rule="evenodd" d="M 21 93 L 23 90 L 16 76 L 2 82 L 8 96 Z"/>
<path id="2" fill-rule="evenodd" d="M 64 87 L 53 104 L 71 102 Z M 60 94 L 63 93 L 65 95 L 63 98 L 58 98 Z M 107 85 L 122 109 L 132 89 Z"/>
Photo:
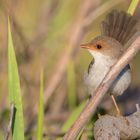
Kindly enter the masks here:
<path id="1" fill-rule="evenodd" d="M 98 55 L 94 63 L 90 63 L 90 67 L 84 75 L 84 81 L 90 94 L 94 94 L 95 90 L 116 61 L 117 59 L 111 59 L 106 56 Z M 130 82 L 131 71 L 129 65 L 127 65 L 118 75 L 109 92 L 114 95 L 121 95 L 128 88 Z"/>

